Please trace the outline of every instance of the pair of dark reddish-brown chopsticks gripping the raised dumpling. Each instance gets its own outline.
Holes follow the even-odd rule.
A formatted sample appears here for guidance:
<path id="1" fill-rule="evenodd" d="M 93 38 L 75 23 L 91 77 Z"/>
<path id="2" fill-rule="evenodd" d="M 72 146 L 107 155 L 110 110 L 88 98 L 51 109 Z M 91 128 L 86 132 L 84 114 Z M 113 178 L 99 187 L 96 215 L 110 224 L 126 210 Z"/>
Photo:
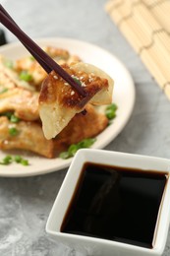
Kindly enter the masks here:
<path id="1" fill-rule="evenodd" d="M 25 45 L 30 54 L 37 60 L 40 66 L 50 73 L 54 70 L 68 84 L 70 84 L 81 96 L 86 96 L 85 90 L 60 66 L 58 65 L 45 51 L 43 51 L 25 32 L 23 32 L 16 22 L 11 18 L 8 12 L 0 5 L 0 22 L 10 32 L 13 32 L 18 39 Z"/>

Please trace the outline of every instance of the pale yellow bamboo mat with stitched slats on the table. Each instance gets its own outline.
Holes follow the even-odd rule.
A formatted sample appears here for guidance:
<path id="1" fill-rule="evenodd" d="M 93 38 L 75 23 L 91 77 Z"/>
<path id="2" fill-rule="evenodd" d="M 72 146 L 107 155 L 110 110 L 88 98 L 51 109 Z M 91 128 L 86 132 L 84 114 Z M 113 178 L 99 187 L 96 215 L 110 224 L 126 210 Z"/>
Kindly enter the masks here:
<path id="1" fill-rule="evenodd" d="M 109 0 L 105 9 L 170 99 L 170 0 Z"/>

